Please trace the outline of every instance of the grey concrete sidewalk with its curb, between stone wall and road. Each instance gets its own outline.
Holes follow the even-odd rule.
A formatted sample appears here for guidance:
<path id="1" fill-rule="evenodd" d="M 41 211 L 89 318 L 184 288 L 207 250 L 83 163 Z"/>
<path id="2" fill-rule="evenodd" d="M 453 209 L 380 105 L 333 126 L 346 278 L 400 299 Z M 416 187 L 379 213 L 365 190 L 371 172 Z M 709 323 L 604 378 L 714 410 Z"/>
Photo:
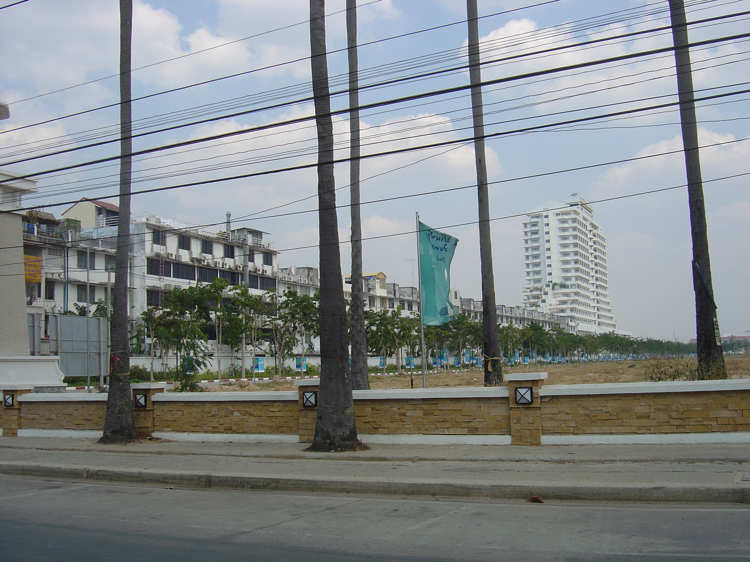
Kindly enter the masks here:
<path id="1" fill-rule="evenodd" d="M 304 448 L 0 438 L 0 473 L 221 489 L 750 503 L 750 447 L 742 444 Z"/>

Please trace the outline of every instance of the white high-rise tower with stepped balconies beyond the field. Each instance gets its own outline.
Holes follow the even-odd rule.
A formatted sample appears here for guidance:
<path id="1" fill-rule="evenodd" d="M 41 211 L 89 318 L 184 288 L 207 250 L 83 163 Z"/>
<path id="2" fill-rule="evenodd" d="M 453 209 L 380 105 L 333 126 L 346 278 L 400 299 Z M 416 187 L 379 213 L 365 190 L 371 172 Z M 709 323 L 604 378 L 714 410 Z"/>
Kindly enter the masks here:
<path id="1" fill-rule="evenodd" d="M 607 240 L 591 207 L 574 193 L 526 215 L 523 306 L 568 316 L 577 333 L 606 333 L 617 324 L 609 300 Z"/>

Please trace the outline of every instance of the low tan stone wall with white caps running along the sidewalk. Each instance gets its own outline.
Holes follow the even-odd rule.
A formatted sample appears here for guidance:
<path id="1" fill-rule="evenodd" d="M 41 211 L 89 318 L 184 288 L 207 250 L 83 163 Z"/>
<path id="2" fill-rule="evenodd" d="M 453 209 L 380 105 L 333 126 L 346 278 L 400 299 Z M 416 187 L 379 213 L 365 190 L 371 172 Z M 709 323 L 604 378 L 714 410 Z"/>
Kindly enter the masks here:
<path id="1" fill-rule="evenodd" d="M 317 381 L 299 383 L 298 390 L 287 392 L 161 393 L 134 388 L 134 393 L 149 393 L 145 408 L 133 408 L 139 435 L 311 441 L 316 408 L 303 407 L 301 396 L 304 390 L 317 390 Z M 363 441 L 371 443 L 750 443 L 750 379 L 509 384 L 355 390 L 357 429 Z M 532 405 L 514 402 L 514 384 L 533 385 Z M 101 431 L 106 399 L 106 394 L 18 394 L 13 407 L 3 408 L 5 435 L 17 435 L 17 430 L 19 435 L 23 430 L 32 435 Z"/>

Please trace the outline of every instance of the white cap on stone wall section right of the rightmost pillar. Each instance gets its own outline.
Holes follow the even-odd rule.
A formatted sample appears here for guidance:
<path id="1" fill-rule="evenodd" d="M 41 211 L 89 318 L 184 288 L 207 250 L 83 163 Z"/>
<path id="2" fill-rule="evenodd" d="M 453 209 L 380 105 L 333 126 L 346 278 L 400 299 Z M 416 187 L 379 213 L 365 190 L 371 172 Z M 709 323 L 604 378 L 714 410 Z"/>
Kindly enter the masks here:
<path id="1" fill-rule="evenodd" d="M 616 382 L 603 384 L 546 384 L 539 396 L 577 396 L 586 394 L 643 394 L 669 392 L 709 392 L 750 390 L 750 378 L 724 381 Z"/>

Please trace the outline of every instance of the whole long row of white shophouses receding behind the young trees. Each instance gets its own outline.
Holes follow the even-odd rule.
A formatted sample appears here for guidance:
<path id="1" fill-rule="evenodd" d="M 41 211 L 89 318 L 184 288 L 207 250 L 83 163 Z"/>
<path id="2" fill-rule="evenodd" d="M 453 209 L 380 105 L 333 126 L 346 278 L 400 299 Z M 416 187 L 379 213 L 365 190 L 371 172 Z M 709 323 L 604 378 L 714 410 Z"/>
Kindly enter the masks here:
<path id="1" fill-rule="evenodd" d="M 108 202 L 82 199 L 63 212 L 29 211 L 23 217 L 27 312 L 48 315 L 77 312 L 110 300 L 114 282 L 118 208 Z M 233 228 L 227 214 L 220 226 L 197 226 L 157 214 L 133 215 L 130 220 L 130 274 L 127 282 L 130 321 L 136 324 L 148 306 L 157 306 L 165 291 L 222 277 L 231 285 L 248 285 L 253 292 L 287 289 L 314 294 L 317 268 L 278 264 L 274 243 L 266 232 Z M 365 274 L 363 291 L 368 309 L 401 307 L 402 314 L 419 312 L 419 288 L 388 282 L 382 272 Z M 344 277 L 351 299 L 351 279 Z M 457 312 L 481 320 L 481 300 L 451 290 Z M 500 324 L 523 326 L 538 322 L 545 328 L 571 331 L 568 318 L 498 306 Z M 45 325 L 47 322 L 45 322 Z"/>

